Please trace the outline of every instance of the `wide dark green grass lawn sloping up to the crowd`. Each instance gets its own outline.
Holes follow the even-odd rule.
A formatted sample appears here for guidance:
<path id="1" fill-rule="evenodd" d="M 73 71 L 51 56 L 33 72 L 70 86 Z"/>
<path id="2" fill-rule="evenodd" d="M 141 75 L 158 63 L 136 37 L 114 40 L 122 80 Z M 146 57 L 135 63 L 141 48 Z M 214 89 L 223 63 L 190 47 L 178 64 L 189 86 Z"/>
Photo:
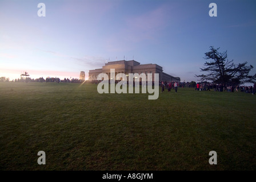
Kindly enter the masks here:
<path id="1" fill-rule="evenodd" d="M 148 100 L 94 84 L 1 82 L 0 169 L 256 169 L 256 96 L 166 91 Z"/>

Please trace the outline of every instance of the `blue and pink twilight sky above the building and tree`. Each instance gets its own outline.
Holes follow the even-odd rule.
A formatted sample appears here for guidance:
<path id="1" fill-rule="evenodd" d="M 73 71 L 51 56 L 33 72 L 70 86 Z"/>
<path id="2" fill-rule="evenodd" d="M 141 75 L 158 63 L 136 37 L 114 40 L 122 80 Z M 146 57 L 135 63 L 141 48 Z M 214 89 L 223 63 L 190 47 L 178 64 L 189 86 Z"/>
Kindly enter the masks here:
<path id="1" fill-rule="evenodd" d="M 45 15 L 38 16 L 39 3 Z M 217 5 L 211 17 L 210 3 Z M 0 0 L 0 77 L 79 78 L 108 61 L 158 64 L 197 81 L 205 53 L 220 47 L 256 73 L 256 1 Z"/>

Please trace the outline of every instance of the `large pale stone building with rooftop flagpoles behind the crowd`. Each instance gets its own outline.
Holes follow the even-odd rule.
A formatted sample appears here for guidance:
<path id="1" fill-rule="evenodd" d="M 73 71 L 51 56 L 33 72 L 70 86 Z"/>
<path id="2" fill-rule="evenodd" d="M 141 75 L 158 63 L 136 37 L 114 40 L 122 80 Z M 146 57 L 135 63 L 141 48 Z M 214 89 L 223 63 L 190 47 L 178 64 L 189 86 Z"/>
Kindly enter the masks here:
<path id="1" fill-rule="evenodd" d="M 106 73 L 110 78 L 110 69 L 115 69 L 115 75 L 118 73 L 124 73 L 128 75 L 129 73 L 152 73 L 152 80 L 154 81 L 154 73 L 159 74 L 159 81 L 181 81 L 179 77 L 173 77 L 163 72 L 163 68 L 157 64 L 141 64 L 137 61 L 130 60 L 121 60 L 121 61 L 111 61 L 106 63 L 100 69 L 89 70 L 89 80 L 97 80 L 97 76 L 100 73 Z"/>

